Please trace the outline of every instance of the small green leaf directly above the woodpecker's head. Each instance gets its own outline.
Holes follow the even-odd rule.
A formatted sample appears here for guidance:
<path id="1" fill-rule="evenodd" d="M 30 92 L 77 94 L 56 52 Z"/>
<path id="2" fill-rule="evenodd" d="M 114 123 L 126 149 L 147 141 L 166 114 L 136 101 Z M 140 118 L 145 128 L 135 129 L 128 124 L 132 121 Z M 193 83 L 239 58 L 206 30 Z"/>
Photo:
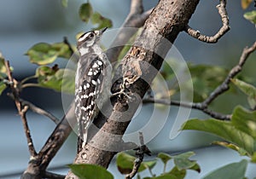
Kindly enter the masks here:
<path id="1" fill-rule="evenodd" d="M 99 14 L 97 12 L 92 14 L 91 23 L 98 25 L 96 28 L 94 28 L 94 30 L 99 30 L 99 29 L 102 29 L 104 27 L 112 27 L 113 26 L 111 20 L 103 17 L 102 14 Z"/>

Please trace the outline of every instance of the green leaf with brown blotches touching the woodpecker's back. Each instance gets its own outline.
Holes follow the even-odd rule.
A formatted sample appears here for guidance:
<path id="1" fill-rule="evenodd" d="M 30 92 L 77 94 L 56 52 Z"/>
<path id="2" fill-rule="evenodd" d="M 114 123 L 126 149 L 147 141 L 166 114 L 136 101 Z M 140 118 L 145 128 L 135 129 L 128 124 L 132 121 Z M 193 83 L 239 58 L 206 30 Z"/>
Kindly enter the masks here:
<path id="1" fill-rule="evenodd" d="M 59 92 L 74 93 L 75 72 L 70 69 L 59 69 L 57 66 L 39 66 L 36 72 L 38 84 Z"/>

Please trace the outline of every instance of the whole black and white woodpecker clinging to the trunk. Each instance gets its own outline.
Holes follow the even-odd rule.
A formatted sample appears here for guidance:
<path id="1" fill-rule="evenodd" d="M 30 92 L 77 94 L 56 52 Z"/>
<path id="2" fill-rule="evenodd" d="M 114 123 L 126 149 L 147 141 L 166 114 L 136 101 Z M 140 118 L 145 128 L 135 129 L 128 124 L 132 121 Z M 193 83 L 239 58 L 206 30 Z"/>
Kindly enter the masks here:
<path id="1" fill-rule="evenodd" d="M 85 32 L 78 40 L 79 62 L 75 79 L 75 115 L 78 120 L 78 151 L 87 130 L 110 94 L 111 64 L 100 47 L 102 31 Z"/>

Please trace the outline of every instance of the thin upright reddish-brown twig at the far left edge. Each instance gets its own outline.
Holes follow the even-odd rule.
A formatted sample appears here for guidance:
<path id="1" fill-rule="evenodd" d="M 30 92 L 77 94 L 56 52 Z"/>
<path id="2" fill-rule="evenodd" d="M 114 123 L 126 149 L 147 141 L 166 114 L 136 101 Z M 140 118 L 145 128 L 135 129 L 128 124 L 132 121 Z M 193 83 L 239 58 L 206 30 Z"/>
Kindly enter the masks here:
<path id="1" fill-rule="evenodd" d="M 15 83 L 16 81 L 12 76 L 12 72 L 11 72 L 10 66 L 9 66 L 9 61 L 4 61 L 4 63 L 5 63 L 5 66 L 6 66 L 7 75 L 8 75 L 9 82 L 10 82 L 10 88 L 11 88 L 12 93 L 13 93 L 14 98 L 15 98 L 15 105 L 18 109 L 19 114 L 20 114 L 20 118 L 21 118 L 23 128 L 24 128 L 24 131 L 25 131 L 27 146 L 28 146 L 28 149 L 29 149 L 29 152 L 30 152 L 30 155 L 31 155 L 31 159 L 34 159 L 37 156 L 37 153 L 36 153 L 35 147 L 33 145 L 32 137 L 30 135 L 30 129 L 28 127 L 27 120 L 26 120 L 26 112 L 27 112 L 28 107 L 26 105 L 23 106 L 20 103 L 19 91 L 16 88 L 16 83 Z"/>

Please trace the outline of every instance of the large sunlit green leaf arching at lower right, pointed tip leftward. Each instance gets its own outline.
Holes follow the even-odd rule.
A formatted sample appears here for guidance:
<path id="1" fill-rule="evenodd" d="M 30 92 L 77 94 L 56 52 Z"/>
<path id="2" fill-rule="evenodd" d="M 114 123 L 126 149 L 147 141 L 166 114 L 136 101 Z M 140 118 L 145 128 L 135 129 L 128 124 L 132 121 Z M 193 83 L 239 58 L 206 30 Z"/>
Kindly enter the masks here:
<path id="1" fill-rule="evenodd" d="M 200 130 L 222 137 L 226 141 L 243 148 L 248 154 L 252 154 L 255 149 L 253 137 L 247 133 L 237 130 L 230 121 L 220 121 L 213 118 L 207 120 L 190 119 L 183 124 L 183 130 Z"/>

